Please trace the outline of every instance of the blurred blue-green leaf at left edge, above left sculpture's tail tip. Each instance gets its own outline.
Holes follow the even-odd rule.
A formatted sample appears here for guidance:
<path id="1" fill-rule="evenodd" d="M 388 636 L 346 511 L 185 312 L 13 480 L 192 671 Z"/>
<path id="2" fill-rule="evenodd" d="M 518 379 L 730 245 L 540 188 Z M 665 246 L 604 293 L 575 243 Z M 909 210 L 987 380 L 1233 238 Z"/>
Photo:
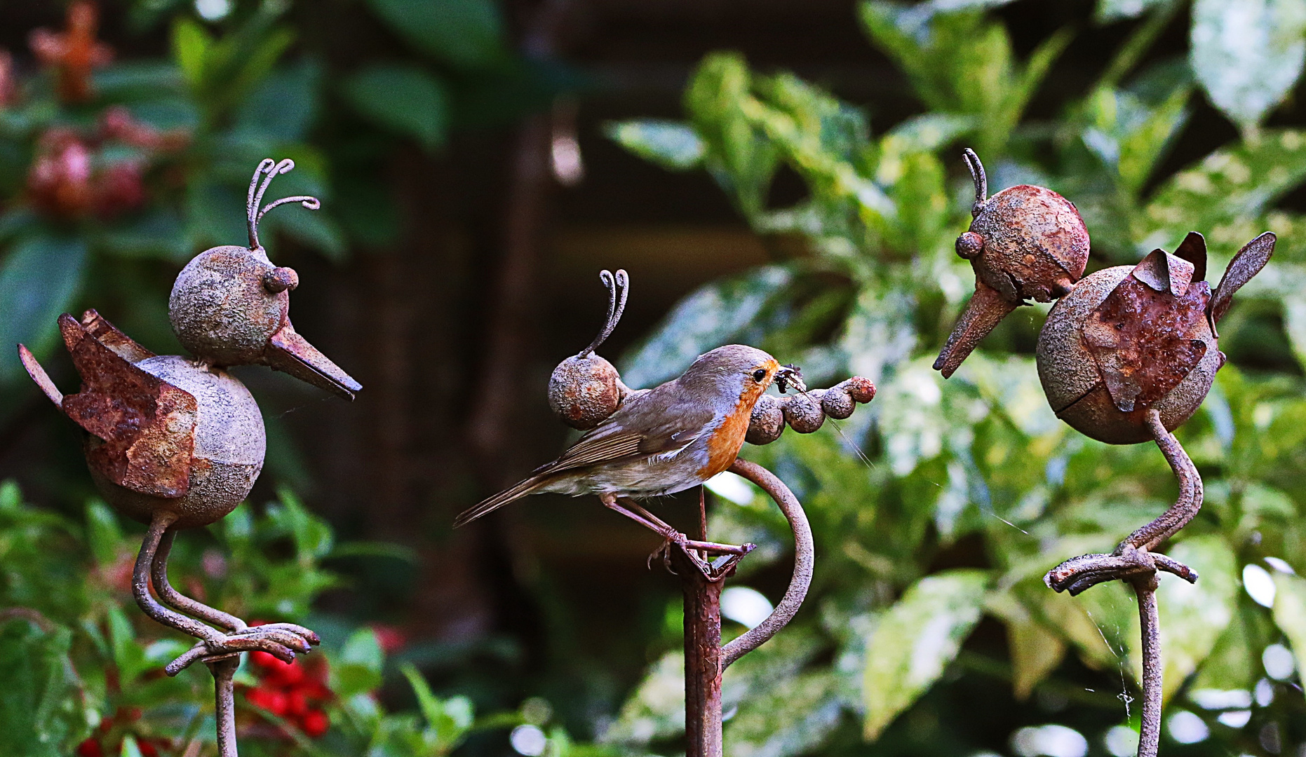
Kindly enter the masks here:
<path id="1" fill-rule="evenodd" d="M 0 382 L 22 376 L 14 345 L 38 358 L 54 347 L 56 321 L 81 291 L 85 268 L 86 243 L 56 236 L 22 239 L 0 264 Z"/>

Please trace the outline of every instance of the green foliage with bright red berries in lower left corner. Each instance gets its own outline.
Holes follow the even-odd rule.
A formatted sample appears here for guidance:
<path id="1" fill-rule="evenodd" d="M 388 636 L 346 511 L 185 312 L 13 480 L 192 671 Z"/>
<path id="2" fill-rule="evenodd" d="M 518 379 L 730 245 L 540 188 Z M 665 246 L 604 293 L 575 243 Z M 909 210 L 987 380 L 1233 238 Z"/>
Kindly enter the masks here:
<path id="1" fill-rule="evenodd" d="M 71 519 L 25 504 L 12 482 L 0 484 L 4 754 L 180 754 L 188 747 L 213 752 L 212 677 L 202 666 L 165 676 L 162 666 L 189 643 L 148 620 L 132 599 L 140 539 L 138 527 L 124 529 L 101 501 L 89 502 L 81 519 Z M 311 623 L 325 632 L 321 647 L 295 663 L 308 671 L 299 677 L 326 671 L 329 692 L 317 696 L 325 715 L 320 732 L 265 709 L 268 700 L 257 692 L 281 690 L 281 684 L 244 655 L 236 673 L 242 754 L 432 757 L 451 753 L 478 731 L 533 722 L 529 707 L 477 717 L 466 697 L 439 698 L 410 663 L 388 660 L 372 628 L 310 616 L 312 600 L 337 581 L 323 566 L 337 548 L 330 527 L 289 492 L 261 512 L 240 505 L 208 529 L 205 546 L 200 540 L 178 543 L 170 570 L 175 583 L 246 617 Z M 340 547 L 351 553 L 366 546 Z M 377 693 L 387 679 L 406 679 L 417 711 L 385 710 Z M 554 731 L 550 754 L 592 753 Z"/>

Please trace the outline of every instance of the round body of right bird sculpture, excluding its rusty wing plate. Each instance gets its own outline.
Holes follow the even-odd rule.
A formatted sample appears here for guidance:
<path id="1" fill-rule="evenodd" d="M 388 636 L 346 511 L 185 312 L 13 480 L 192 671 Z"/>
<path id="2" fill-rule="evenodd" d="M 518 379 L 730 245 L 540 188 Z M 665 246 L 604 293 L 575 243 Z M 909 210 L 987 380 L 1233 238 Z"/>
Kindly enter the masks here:
<path id="1" fill-rule="evenodd" d="M 1107 444 L 1136 444 L 1152 439 L 1144 420 L 1147 409 L 1122 412 L 1111 402 L 1097 360 L 1083 337 L 1088 317 L 1132 270 L 1131 265 L 1118 265 L 1079 282 L 1053 307 L 1038 335 L 1038 380 L 1047 403 L 1072 428 Z M 1199 333 L 1192 337 L 1205 343 L 1202 362 L 1165 397 L 1152 403 L 1161 412 L 1166 431 L 1174 431 L 1192 418 L 1222 363 L 1216 335 L 1204 318 Z"/>

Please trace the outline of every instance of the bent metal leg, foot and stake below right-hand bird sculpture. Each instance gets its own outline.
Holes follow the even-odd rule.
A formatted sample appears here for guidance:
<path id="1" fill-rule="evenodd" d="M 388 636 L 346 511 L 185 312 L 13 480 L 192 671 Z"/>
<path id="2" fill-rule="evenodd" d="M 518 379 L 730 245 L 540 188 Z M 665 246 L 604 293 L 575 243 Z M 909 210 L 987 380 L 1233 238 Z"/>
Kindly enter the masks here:
<path id="1" fill-rule="evenodd" d="M 1188 583 L 1198 581 L 1195 570 L 1152 549 L 1186 526 L 1202 509 L 1202 476 L 1173 433 L 1161 424 L 1161 414 L 1148 410 L 1147 427 L 1161 448 L 1174 476 L 1179 496 L 1161 517 L 1130 534 L 1110 555 L 1071 557 L 1047 572 L 1043 582 L 1054 591 L 1079 594 L 1106 581 L 1124 581 L 1139 598 L 1139 624 L 1143 629 L 1143 718 L 1139 757 L 1156 757 L 1161 740 L 1161 628 L 1157 620 L 1157 570 L 1174 573 Z"/>

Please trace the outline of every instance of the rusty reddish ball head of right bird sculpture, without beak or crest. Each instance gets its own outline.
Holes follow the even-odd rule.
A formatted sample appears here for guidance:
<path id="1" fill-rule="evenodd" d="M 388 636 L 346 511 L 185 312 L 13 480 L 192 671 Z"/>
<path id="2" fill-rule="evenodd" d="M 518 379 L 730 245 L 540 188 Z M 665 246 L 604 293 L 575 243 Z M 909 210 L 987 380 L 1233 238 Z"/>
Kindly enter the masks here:
<path id="1" fill-rule="evenodd" d="M 1070 200 L 1020 184 L 980 206 L 970 231 L 957 239 L 957 252 L 970 258 L 977 278 L 1007 300 L 1046 303 L 1084 275 L 1088 244 L 1084 219 Z"/>

